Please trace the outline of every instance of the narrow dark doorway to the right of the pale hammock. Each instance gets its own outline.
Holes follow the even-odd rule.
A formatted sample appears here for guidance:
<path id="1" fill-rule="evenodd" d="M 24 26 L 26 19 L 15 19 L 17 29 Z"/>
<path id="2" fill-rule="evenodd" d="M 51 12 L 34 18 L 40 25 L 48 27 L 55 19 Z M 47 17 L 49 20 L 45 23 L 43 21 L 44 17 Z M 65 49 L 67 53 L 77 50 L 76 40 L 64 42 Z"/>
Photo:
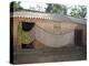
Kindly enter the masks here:
<path id="1" fill-rule="evenodd" d="M 82 46 L 82 30 L 75 30 L 75 44 Z"/>

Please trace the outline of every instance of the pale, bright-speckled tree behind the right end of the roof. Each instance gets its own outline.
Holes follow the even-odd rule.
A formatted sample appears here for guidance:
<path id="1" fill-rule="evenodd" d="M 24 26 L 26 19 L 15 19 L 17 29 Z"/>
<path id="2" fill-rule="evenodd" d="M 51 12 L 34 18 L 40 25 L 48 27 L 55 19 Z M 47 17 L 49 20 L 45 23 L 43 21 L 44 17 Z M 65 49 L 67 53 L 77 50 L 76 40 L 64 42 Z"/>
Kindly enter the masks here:
<path id="1" fill-rule="evenodd" d="M 85 18 L 87 14 L 87 8 L 85 6 L 75 6 L 71 9 L 70 15 L 76 18 Z"/>

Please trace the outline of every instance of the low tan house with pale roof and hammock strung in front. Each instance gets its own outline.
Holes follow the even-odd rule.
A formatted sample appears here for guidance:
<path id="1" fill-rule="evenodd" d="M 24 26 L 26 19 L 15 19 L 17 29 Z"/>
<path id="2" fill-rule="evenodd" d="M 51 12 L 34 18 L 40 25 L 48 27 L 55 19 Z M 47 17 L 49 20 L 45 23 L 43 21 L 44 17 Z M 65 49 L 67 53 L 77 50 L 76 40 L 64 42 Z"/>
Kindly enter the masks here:
<path id="1" fill-rule="evenodd" d="M 18 43 L 18 25 L 22 24 L 24 32 L 29 33 L 33 42 L 33 48 L 62 47 L 71 44 L 86 46 L 87 20 L 56 13 L 14 11 L 11 19 L 11 34 L 13 35 L 13 48 L 22 50 Z M 29 29 L 28 29 L 29 28 Z M 31 42 L 30 42 L 31 43 Z M 27 43 L 26 45 L 29 44 Z M 24 46 L 26 46 L 24 45 Z"/>

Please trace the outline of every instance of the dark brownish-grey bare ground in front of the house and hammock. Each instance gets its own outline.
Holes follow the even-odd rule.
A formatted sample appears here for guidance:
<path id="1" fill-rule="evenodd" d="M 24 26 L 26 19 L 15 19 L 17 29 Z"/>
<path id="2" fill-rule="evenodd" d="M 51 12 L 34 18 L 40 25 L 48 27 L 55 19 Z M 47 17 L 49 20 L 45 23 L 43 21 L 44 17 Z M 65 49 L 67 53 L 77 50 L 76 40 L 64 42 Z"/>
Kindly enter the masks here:
<path id="1" fill-rule="evenodd" d="M 13 54 L 14 64 L 86 61 L 85 47 L 67 45 L 59 48 L 21 50 Z"/>

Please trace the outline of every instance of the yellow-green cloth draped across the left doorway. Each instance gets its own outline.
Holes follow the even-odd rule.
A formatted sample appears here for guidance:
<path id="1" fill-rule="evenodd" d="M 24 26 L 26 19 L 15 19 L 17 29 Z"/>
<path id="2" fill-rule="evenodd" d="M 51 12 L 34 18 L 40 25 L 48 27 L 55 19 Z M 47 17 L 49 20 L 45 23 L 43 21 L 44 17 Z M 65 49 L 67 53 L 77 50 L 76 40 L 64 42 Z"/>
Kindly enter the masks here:
<path id="1" fill-rule="evenodd" d="M 31 42 L 31 37 L 28 32 L 22 31 L 22 24 L 18 25 L 18 43 L 29 44 Z"/>

